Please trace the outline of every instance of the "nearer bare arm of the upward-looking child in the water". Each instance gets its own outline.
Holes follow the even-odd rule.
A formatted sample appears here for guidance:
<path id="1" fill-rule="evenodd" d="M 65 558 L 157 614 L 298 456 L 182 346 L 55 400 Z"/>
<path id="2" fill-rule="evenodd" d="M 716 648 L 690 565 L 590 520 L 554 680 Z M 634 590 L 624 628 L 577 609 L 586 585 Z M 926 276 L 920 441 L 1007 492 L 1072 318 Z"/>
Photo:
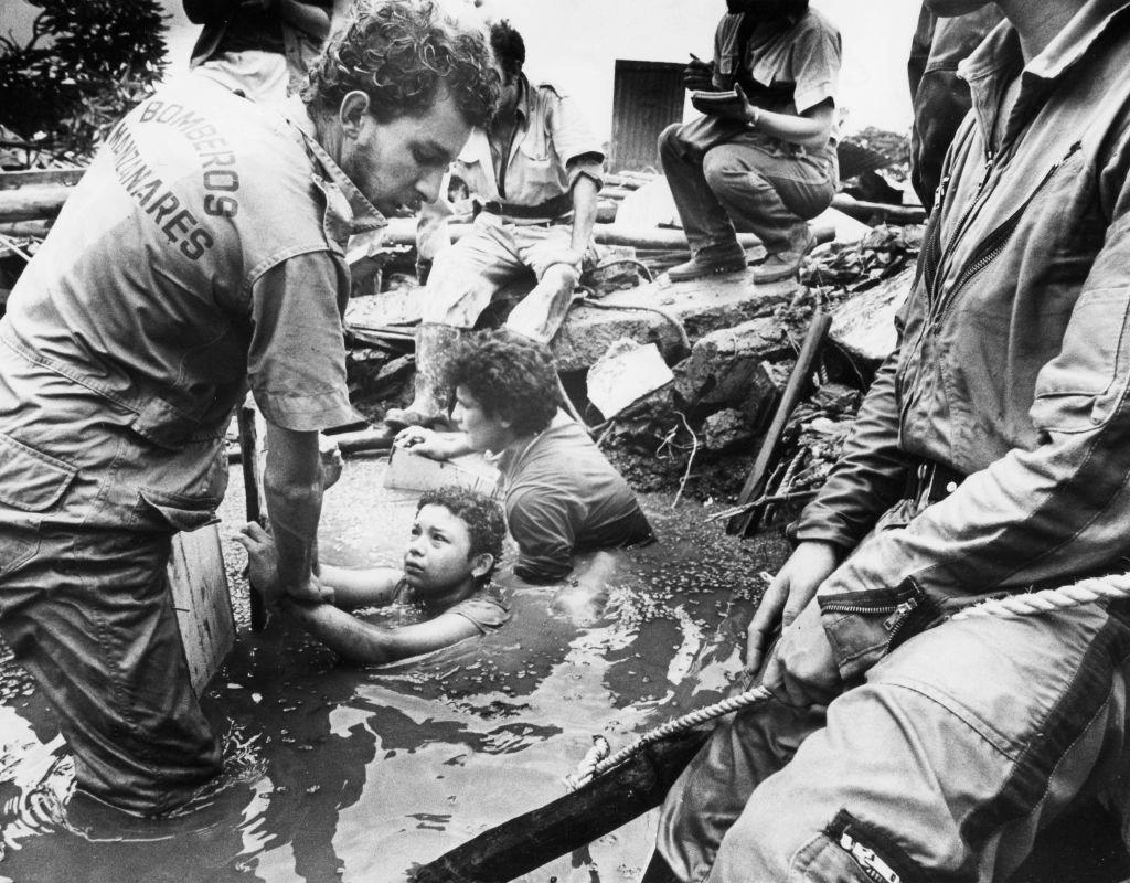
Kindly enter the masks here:
<path id="1" fill-rule="evenodd" d="M 336 653 L 360 665 L 408 659 L 479 634 L 478 626 L 458 613 L 442 613 L 424 623 L 386 629 L 330 604 L 287 599 L 282 609 Z"/>

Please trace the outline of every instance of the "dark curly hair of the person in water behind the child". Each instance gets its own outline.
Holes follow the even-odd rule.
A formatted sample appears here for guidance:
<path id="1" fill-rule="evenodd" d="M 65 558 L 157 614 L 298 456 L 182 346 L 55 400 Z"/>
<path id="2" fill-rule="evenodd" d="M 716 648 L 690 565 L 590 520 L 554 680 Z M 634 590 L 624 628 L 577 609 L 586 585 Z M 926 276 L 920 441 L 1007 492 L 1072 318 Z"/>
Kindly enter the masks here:
<path id="1" fill-rule="evenodd" d="M 510 421 L 519 435 L 541 432 L 557 413 L 557 369 L 548 347 L 503 328 L 459 341 L 445 366 L 444 386 L 463 387 L 483 410 Z"/>

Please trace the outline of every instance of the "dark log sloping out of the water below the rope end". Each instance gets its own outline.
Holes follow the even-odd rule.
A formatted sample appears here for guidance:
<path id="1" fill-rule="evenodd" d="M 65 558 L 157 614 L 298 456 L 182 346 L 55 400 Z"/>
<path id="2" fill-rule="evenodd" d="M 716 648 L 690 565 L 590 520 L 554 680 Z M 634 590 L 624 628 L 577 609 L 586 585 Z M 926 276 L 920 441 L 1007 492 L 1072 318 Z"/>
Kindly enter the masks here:
<path id="1" fill-rule="evenodd" d="M 582 788 L 484 831 L 415 868 L 415 883 L 505 883 L 659 806 L 706 741 L 694 729 L 649 745 Z"/>

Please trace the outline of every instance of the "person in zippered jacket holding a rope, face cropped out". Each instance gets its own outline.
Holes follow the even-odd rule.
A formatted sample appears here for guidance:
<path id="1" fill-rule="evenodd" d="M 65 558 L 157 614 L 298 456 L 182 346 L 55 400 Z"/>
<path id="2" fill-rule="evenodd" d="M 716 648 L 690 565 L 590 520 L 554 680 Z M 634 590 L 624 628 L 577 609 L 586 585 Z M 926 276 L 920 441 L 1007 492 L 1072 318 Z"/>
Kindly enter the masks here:
<path id="1" fill-rule="evenodd" d="M 897 347 L 750 624 L 774 699 L 676 784 L 649 883 L 1007 880 L 1076 798 L 1124 817 L 1116 605 L 948 618 L 1130 553 L 1130 0 L 997 6 Z"/>

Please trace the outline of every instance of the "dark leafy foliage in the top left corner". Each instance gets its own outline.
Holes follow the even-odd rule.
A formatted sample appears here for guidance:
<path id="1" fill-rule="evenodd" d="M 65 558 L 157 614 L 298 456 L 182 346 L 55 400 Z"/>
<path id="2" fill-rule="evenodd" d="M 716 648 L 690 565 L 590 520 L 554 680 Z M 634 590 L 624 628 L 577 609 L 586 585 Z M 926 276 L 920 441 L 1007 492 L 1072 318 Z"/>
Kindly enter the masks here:
<path id="1" fill-rule="evenodd" d="M 42 10 L 27 43 L 0 35 L 5 146 L 86 161 L 164 72 L 159 0 L 27 2 Z"/>

